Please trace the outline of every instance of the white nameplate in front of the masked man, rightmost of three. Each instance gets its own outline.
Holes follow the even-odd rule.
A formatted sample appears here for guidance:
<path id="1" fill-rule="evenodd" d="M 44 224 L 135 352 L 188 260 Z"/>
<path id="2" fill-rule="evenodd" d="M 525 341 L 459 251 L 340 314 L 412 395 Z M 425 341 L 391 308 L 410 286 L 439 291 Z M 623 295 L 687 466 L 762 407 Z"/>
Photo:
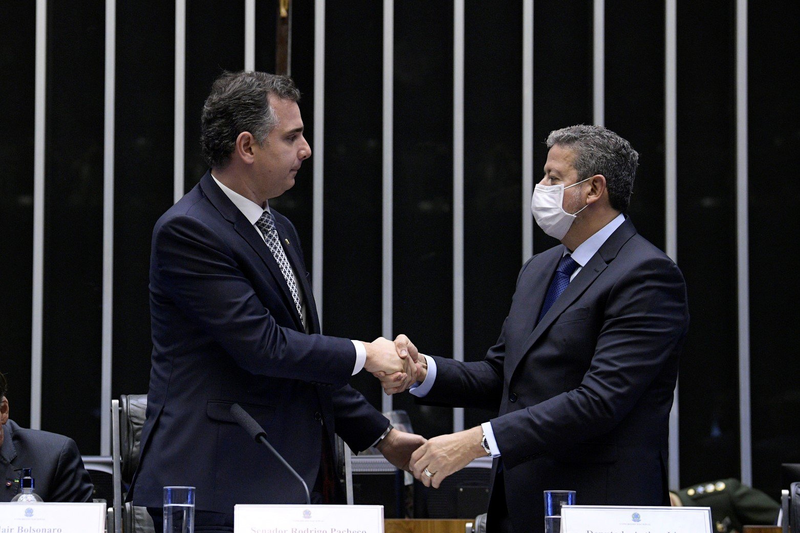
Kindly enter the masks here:
<path id="1" fill-rule="evenodd" d="M 711 533 L 709 507 L 566 505 L 562 533 Z"/>

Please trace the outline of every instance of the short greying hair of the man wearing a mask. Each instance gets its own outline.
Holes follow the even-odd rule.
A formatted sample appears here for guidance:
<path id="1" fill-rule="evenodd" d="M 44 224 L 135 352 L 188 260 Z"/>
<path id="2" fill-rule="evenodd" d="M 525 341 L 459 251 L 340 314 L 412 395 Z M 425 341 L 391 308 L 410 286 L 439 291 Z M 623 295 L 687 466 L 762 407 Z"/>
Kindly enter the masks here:
<path id="1" fill-rule="evenodd" d="M 611 207 L 620 213 L 628 209 L 639 166 L 639 154 L 630 142 L 603 126 L 579 124 L 551 131 L 547 147 L 554 145 L 574 151 L 573 166 L 578 170 L 578 181 L 602 174 L 606 177 Z"/>

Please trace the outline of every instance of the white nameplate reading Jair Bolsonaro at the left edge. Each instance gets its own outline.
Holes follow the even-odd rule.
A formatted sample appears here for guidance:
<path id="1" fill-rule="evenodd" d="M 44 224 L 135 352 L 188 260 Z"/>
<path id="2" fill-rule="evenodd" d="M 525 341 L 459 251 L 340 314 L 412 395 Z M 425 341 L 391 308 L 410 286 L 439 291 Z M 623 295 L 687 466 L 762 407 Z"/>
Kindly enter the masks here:
<path id="1" fill-rule="evenodd" d="M 103 533 L 105 503 L 0 503 L 0 533 Z"/>

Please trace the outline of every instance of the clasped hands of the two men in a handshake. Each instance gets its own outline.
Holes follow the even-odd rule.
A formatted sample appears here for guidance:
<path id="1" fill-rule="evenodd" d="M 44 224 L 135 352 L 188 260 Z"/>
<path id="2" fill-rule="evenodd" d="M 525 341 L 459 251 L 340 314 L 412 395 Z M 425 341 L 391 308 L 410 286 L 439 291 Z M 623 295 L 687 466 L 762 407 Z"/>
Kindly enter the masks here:
<path id="1" fill-rule="evenodd" d="M 406 391 L 414 383 L 425 379 L 426 359 L 419 357 L 417 347 L 406 335 L 398 335 L 394 343 L 378 337 L 371 343 L 363 344 L 366 347 L 364 369 L 380 380 L 386 395 Z"/>

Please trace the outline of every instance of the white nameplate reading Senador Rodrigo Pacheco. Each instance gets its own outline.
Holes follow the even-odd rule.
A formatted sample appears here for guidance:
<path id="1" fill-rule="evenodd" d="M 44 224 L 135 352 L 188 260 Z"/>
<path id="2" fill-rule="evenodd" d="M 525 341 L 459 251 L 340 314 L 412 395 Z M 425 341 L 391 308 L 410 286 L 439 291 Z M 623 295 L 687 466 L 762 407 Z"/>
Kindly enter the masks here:
<path id="1" fill-rule="evenodd" d="M 383 506 L 240 504 L 234 533 L 383 533 Z"/>

